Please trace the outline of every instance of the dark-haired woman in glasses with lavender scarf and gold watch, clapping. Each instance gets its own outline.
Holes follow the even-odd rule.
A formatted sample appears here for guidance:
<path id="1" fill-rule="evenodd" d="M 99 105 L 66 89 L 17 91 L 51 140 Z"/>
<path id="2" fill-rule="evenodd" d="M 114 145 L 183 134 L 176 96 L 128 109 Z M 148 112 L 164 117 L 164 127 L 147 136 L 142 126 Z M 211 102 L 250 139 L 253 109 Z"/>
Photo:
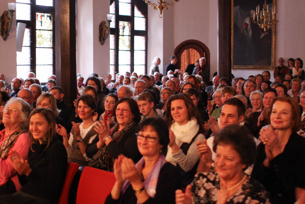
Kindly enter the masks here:
<path id="1" fill-rule="evenodd" d="M 169 132 L 162 118 L 147 118 L 139 125 L 138 163 L 120 155 L 114 163 L 116 183 L 105 203 L 175 203 L 180 174 L 165 160 Z"/>

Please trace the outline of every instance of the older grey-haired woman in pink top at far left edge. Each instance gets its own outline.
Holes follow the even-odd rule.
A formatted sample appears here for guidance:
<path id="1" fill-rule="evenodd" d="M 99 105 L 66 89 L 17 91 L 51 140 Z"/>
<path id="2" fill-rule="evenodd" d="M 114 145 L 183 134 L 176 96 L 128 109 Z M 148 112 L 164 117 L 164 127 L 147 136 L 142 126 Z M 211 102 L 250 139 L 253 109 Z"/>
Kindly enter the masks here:
<path id="1" fill-rule="evenodd" d="M 20 190 L 21 185 L 8 155 L 17 152 L 23 161 L 27 160 L 30 138 L 30 105 L 22 98 L 11 98 L 4 106 L 2 122 L 5 129 L 0 131 L 0 195 L 12 194 Z"/>

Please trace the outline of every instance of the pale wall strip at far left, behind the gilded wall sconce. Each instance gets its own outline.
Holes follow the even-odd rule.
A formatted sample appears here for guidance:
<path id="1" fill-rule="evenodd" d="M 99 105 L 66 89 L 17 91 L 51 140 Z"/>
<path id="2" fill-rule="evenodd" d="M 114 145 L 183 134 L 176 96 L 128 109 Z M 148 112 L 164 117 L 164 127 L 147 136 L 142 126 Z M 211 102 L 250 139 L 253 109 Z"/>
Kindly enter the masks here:
<path id="1" fill-rule="evenodd" d="M 0 1 L 0 15 L 5 10 L 8 10 L 7 3 L 11 0 Z M 12 79 L 16 77 L 16 13 L 13 16 L 12 28 L 9 32 L 9 36 L 4 41 L 0 37 L 0 73 L 5 75 L 5 82 L 11 83 Z"/>

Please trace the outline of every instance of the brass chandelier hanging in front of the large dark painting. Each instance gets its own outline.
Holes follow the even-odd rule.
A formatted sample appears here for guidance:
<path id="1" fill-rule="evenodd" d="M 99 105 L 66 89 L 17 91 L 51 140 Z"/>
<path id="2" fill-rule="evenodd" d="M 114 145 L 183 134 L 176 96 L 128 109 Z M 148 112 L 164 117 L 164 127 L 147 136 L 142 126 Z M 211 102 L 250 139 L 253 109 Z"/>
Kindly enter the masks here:
<path id="1" fill-rule="evenodd" d="M 265 3 L 263 9 L 260 11 L 260 5 L 256 6 L 256 11 L 253 13 L 253 20 L 260 28 L 264 28 L 266 32 L 267 29 L 271 28 L 272 25 L 275 25 L 278 22 L 278 17 L 276 13 L 276 6 L 272 5 L 271 14 L 269 12 L 269 5 Z"/>

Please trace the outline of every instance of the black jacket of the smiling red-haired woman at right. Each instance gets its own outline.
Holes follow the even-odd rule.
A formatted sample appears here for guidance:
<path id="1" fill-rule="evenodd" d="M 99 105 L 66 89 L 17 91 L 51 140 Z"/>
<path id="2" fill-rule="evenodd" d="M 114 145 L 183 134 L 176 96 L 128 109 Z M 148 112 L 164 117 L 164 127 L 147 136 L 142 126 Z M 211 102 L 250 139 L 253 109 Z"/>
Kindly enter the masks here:
<path id="1" fill-rule="evenodd" d="M 264 185 L 271 195 L 271 203 L 294 203 L 295 187 L 305 188 L 305 138 L 292 132 L 284 151 L 263 165 L 265 145 L 257 147 L 257 160 L 252 177 Z"/>

